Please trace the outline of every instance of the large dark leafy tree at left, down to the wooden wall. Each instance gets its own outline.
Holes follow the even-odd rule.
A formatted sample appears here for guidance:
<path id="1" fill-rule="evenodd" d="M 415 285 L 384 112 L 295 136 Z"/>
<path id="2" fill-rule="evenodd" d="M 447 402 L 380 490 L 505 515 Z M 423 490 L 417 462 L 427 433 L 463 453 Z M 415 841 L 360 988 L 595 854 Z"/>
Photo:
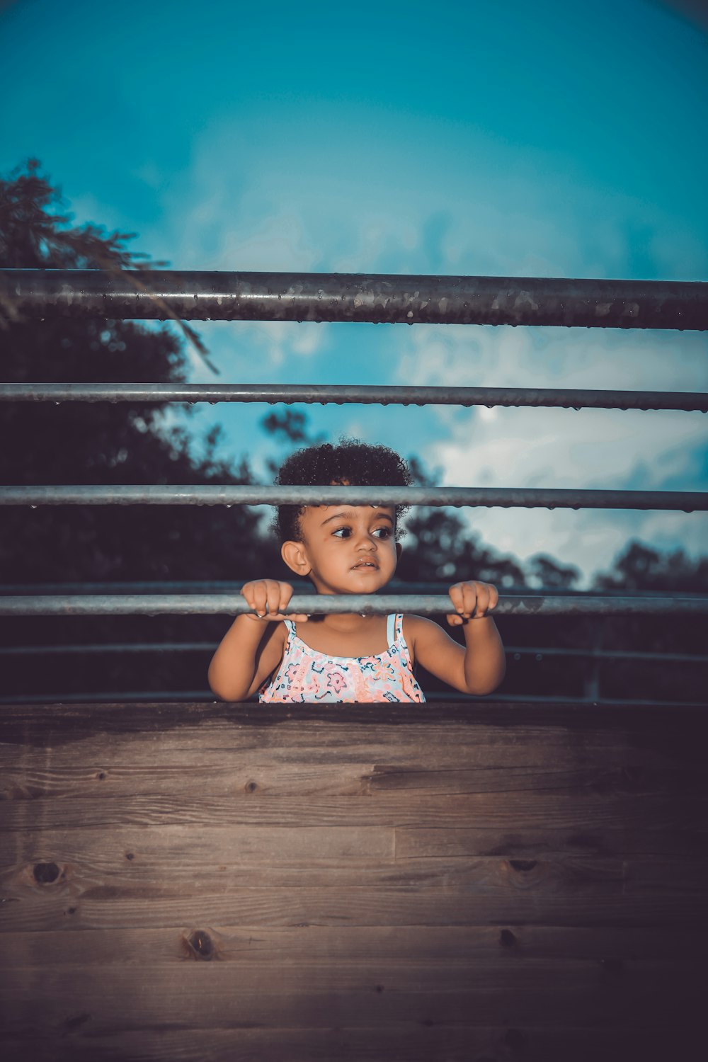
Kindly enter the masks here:
<path id="1" fill-rule="evenodd" d="M 127 234 L 74 226 L 59 192 L 30 161 L 0 181 L 0 266 L 11 269 L 140 269 L 162 266 L 128 250 Z M 184 338 L 173 326 L 124 321 L 20 320 L 0 307 L 6 381 L 184 380 Z M 190 329 L 183 329 L 198 343 Z M 0 405 L 0 479 L 7 484 L 243 483 L 247 463 L 215 457 L 219 433 L 201 460 L 188 433 L 163 426 L 157 402 Z M 2 512 L 0 581 L 25 584 L 127 580 L 235 580 L 272 563 L 259 518 L 243 507 L 17 507 Z M 224 617 L 22 617 L 1 623 L 5 644 L 214 640 Z M 27 657 L 23 658 L 27 661 Z M 4 693 L 205 688 L 208 656 L 87 654 L 20 660 L 4 675 Z M 77 666 L 80 665 L 80 666 Z M 10 672 L 10 673 L 8 673 Z"/>

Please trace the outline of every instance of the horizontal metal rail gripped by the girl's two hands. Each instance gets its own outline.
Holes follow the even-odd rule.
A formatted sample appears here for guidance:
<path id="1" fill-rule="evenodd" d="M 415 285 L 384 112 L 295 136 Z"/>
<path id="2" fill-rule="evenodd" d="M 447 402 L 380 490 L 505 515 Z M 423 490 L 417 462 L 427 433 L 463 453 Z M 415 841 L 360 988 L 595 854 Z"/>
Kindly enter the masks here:
<path id="1" fill-rule="evenodd" d="M 450 598 L 437 594 L 332 594 L 313 597 L 296 594 L 290 600 L 290 613 L 333 615 L 358 612 L 362 615 L 386 615 L 413 612 L 436 616 L 453 612 Z M 107 616 L 107 615 L 229 615 L 254 613 L 240 594 L 93 594 L 0 598 L 0 616 Z M 533 597 L 504 595 L 495 609 L 496 616 L 628 616 L 628 615 L 708 616 L 708 597 L 606 598 Z"/>

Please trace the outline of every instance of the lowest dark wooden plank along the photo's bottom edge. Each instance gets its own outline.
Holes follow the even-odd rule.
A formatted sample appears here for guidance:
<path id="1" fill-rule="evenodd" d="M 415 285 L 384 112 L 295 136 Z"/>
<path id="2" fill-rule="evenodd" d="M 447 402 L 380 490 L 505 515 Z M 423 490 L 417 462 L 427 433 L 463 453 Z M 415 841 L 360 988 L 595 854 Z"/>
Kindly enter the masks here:
<path id="1" fill-rule="evenodd" d="M 68 1027 L 67 1027 L 68 1026 Z M 597 1024 L 530 1028 L 511 1024 L 469 1027 L 397 1023 L 369 1028 L 187 1029 L 184 1027 L 92 1034 L 79 1012 L 51 1039 L 3 1040 L 4 1062 L 667 1062 L 695 1057 L 695 1023 L 660 1027 Z"/>

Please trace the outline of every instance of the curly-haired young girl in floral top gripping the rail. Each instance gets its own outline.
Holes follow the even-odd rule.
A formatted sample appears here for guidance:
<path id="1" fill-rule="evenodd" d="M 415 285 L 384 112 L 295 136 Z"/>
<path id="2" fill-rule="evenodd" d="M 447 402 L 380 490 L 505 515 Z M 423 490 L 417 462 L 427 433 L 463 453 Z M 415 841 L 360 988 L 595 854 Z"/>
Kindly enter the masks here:
<path id="1" fill-rule="evenodd" d="M 343 440 L 292 455 L 276 482 L 407 486 L 411 474 L 393 450 Z M 295 575 L 309 577 L 317 594 L 374 594 L 396 570 L 404 511 L 280 506 L 275 528 L 282 559 Z M 263 702 L 421 702 L 415 663 L 463 693 L 490 693 L 504 676 L 504 650 L 488 615 L 499 595 L 488 583 L 450 587 L 447 621 L 463 626 L 465 649 L 422 616 L 289 615 L 293 588 L 275 579 L 248 582 L 241 593 L 256 615 L 235 619 L 209 666 L 209 685 L 226 701 L 258 690 Z"/>

